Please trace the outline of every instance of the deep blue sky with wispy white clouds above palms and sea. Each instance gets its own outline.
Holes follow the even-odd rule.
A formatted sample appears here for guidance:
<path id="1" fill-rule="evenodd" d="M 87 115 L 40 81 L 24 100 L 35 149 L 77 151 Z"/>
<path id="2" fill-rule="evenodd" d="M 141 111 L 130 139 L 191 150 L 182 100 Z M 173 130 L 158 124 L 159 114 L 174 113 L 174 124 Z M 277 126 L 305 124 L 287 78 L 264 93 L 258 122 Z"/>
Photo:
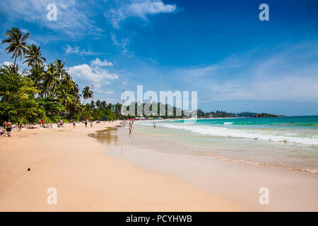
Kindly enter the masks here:
<path id="1" fill-rule="evenodd" d="M 262 3 L 269 21 L 259 20 Z M 48 61 L 66 61 L 80 88 L 94 84 L 95 100 L 120 102 L 143 85 L 196 90 L 204 110 L 318 114 L 314 0 L 2 0 L 0 20 L 1 34 L 16 26 Z"/>

